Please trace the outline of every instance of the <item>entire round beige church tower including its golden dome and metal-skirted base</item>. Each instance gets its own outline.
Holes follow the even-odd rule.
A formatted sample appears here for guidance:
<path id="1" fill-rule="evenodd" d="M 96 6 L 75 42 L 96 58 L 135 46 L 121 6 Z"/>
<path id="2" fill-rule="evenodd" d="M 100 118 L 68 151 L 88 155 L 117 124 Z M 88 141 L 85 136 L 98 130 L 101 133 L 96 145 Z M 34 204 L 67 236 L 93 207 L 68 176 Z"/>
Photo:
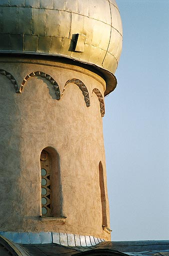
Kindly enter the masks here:
<path id="1" fill-rule="evenodd" d="M 114 0 L 0 1 L 0 234 L 110 240 L 102 135 L 122 26 Z"/>

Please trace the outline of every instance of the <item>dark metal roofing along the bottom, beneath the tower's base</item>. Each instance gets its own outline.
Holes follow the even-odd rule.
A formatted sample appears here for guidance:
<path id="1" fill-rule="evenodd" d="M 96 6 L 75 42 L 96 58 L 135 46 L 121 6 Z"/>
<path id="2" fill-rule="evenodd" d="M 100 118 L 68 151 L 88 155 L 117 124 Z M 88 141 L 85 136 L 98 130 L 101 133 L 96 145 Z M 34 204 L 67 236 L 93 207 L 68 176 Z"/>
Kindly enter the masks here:
<path id="1" fill-rule="evenodd" d="M 13 256 L 169 256 L 169 240 L 110 241 L 94 246 L 63 246 L 57 243 L 18 244 L 0 236 L 0 255 L 5 256 L 7 253 Z"/>

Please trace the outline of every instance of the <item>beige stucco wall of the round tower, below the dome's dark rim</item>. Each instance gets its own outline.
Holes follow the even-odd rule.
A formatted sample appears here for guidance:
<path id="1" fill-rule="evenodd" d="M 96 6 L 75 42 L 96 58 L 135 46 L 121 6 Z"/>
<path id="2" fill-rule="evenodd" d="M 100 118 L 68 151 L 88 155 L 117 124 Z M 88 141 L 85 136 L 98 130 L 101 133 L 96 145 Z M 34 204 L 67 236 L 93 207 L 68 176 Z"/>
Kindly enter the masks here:
<path id="1" fill-rule="evenodd" d="M 68 79 L 76 78 L 85 84 L 90 97 L 87 107 L 81 90 L 70 83 L 57 100 L 51 83 L 36 76 L 16 93 L 11 81 L 0 74 L 0 230 L 67 232 L 109 240 L 102 229 L 98 172 L 101 161 L 109 226 L 102 118 L 98 97 L 92 93 L 97 88 L 104 95 L 104 80 L 58 61 L 1 57 L 0 69 L 9 72 L 18 85 L 31 72 L 47 73 L 60 92 Z M 45 147 L 59 155 L 60 215 L 66 216 L 65 224 L 39 217 L 39 157 Z"/>

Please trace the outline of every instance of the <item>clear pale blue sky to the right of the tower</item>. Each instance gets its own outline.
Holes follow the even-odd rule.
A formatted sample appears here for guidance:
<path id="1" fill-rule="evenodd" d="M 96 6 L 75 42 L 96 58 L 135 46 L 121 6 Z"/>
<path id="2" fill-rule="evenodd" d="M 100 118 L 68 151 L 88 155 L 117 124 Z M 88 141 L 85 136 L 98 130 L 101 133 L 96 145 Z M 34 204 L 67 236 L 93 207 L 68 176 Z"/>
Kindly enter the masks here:
<path id="1" fill-rule="evenodd" d="M 103 118 L 111 239 L 169 239 L 169 1 L 116 3 L 123 50 Z"/>

